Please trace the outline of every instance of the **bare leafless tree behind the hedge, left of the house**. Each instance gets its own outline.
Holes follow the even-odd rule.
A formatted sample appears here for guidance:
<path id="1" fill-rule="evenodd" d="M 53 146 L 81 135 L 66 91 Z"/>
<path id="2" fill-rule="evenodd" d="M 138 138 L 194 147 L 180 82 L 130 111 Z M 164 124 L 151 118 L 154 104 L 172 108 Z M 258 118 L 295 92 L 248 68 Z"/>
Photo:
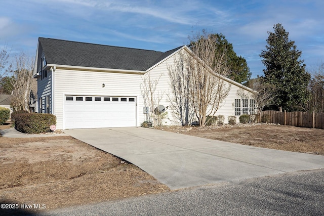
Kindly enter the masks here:
<path id="1" fill-rule="evenodd" d="M 34 61 L 25 53 L 16 57 L 14 65 L 13 79 L 13 98 L 12 105 L 15 110 L 28 110 L 30 105 L 30 92 L 33 88 L 32 73 Z"/>

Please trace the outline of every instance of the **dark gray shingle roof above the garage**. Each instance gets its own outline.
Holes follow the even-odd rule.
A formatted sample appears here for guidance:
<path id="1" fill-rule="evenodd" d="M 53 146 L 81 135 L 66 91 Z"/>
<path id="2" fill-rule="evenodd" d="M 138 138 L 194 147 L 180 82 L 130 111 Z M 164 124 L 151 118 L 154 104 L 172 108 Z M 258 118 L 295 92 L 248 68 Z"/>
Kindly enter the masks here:
<path id="1" fill-rule="evenodd" d="M 145 71 L 173 52 L 113 47 L 39 37 L 48 64 Z"/>

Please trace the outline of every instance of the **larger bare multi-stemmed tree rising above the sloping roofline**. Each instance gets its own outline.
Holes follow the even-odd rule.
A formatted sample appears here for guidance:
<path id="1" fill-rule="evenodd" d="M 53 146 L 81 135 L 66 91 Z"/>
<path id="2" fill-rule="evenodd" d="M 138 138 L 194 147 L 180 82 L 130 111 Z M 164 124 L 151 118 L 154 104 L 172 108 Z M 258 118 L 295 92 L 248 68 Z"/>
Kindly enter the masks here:
<path id="1" fill-rule="evenodd" d="M 223 52 L 215 52 L 217 43 L 212 34 L 206 31 L 191 39 L 191 95 L 200 126 L 208 123 L 207 116 L 216 114 L 230 90 L 230 83 L 225 81 L 230 72 L 226 61 L 226 48 Z"/>

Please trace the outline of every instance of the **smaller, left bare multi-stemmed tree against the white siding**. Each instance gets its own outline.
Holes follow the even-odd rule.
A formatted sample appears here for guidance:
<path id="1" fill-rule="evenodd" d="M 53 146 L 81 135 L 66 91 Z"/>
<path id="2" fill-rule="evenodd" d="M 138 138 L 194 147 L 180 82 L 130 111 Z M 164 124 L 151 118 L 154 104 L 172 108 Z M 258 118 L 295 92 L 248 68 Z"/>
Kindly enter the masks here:
<path id="1" fill-rule="evenodd" d="M 191 123 L 194 110 L 192 100 L 191 56 L 183 51 L 177 53 L 173 65 L 168 65 L 172 94 L 168 95 L 170 108 L 182 125 Z"/>

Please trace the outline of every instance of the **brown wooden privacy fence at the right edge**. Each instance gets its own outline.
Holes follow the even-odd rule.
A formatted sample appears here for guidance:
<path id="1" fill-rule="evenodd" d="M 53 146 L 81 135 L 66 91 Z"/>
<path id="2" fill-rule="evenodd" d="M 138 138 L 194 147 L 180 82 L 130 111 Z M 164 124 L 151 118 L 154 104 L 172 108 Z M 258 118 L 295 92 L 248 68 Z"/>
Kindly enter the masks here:
<path id="1" fill-rule="evenodd" d="M 324 113 L 322 112 L 279 112 L 274 110 L 265 110 L 260 114 L 260 121 L 262 115 L 270 115 L 270 123 L 324 129 Z"/>

